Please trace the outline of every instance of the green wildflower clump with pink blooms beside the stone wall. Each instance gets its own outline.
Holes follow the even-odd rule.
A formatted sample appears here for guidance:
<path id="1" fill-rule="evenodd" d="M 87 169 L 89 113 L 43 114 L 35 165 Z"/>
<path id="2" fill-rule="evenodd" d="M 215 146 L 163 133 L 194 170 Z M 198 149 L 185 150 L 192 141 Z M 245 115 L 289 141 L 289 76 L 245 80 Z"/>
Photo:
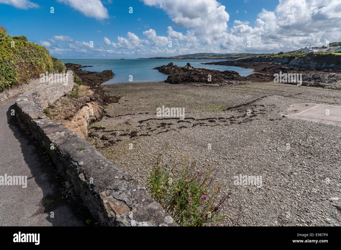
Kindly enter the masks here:
<path id="1" fill-rule="evenodd" d="M 197 170 L 196 161 L 182 159 L 173 166 L 162 164 L 161 153 L 152 159 L 147 189 L 151 197 L 181 226 L 221 223 L 220 210 L 227 200 L 214 180 L 212 167 Z"/>

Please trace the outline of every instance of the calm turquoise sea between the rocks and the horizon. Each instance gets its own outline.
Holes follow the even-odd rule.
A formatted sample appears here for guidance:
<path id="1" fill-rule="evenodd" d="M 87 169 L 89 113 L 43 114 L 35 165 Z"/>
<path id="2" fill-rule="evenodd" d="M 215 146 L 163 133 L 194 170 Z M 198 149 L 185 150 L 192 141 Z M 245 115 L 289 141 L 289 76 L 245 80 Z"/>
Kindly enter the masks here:
<path id="1" fill-rule="evenodd" d="M 194 68 L 205 68 L 211 70 L 234 70 L 241 76 L 247 76 L 252 74 L 252 69 L 243 69 L 234 66 L 224 65 L 203 65 L 200 63 L 205 62 L 219 62 L 224 60 L 166 60 L 166 59 L 61 59 L 64 63 L 76 63 L 81 65 L 90 65 L 91 68 L 82 68 L 83 70 L 98 71 L 112 70 L 115 73 L 113 79 L 108 80 L 105 84 L 115 83 L 127 83 L 129 82 L 129 76 L 133 76 L 133 82 L 157 82 L 167 79 L 167 75 L 160 73 L 158 70 L 153 70 L 155 67 L 167 65 L 169 62 L 173 62 L 174 65 L 185 66 L 188 62 Z"/>

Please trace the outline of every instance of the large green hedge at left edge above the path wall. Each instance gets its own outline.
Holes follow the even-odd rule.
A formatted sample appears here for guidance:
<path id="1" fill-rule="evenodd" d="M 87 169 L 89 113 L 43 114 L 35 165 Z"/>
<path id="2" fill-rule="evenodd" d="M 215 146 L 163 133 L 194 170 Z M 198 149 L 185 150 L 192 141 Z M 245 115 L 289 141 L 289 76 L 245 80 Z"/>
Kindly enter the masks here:
<path id="1" fill-rule="evenodd" d="M 23 37 L 11 41 L 6 35 L 0 40 L 0 91 L 28 82 L 46 71 L 53 71 L 53 63 L 45 47 L 27 42 Z"/>

